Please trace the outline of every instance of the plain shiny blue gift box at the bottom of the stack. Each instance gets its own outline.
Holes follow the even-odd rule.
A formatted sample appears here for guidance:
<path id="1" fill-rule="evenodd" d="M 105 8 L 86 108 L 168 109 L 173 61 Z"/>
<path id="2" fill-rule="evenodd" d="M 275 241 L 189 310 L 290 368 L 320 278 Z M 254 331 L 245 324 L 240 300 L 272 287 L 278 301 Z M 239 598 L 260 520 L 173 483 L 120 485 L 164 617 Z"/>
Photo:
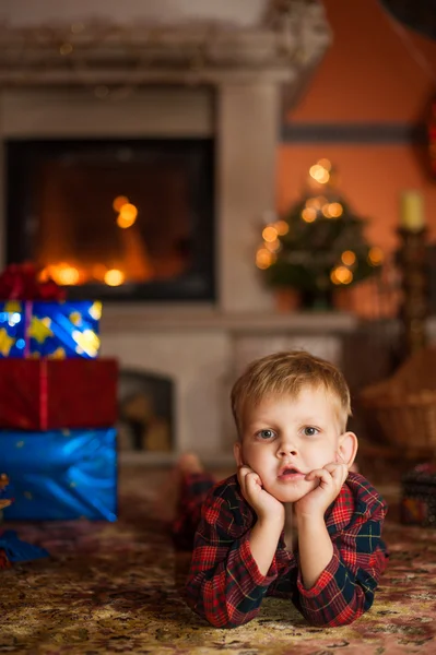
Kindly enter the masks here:
<path id="1" fill-rule="evenodd" d="M 116 429 L 0 431 L 14 502 L 4 520 L 117 519 Z"/>

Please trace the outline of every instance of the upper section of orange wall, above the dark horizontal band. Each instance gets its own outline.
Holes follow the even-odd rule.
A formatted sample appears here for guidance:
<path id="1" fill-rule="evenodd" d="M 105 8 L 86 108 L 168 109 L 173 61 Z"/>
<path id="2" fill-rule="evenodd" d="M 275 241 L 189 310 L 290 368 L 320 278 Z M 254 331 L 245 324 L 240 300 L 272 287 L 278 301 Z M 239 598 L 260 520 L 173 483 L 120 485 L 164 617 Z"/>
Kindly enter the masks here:
<path id="1" fill-rule="evenodd" d="M 436 41 L 396 24 L 378 0 L 323 0 L 323 4 L 333 45 L 290 120 L 416 121 L 436 93 Z M 405 32 L 411 46 L 397 29 Z M 428 60 L 433 78 L 408 47 Z"/>

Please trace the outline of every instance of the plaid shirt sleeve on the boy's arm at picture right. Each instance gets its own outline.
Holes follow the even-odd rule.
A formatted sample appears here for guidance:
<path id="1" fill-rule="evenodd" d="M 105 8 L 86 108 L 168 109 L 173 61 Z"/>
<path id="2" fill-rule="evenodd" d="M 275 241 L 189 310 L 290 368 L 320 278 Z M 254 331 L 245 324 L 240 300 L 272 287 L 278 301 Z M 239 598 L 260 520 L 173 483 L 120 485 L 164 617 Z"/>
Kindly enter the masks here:
<path id="1" fill-rule="evenodd" d="M 311 624 L 345 626 L 372 607 L 386 569 L 387 552 L 381 540 L 386 512 L 386 503 L 378 497 L 369 512 L 355 512 L 353 521 L 332 535 L 333 557 L 310 590 L 304 587 L 299 571 L 297 602 Z"/>

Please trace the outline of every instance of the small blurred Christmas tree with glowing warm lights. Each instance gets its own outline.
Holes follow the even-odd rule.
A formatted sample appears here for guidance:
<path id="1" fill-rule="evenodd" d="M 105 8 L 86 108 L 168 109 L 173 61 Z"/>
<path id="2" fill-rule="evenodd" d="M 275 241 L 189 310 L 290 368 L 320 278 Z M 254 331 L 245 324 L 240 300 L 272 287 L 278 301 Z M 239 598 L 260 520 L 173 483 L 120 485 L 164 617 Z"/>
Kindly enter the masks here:
<path id="1" fill-rule="evenodd" d="M 374 274 L 382 252 L 364 237 L 365 221 L 337 189 L 338 176 L 321 159 L 309 170 L 304 196 L 263 227 L 256 264 L 271 287 L 292 287 L 306 305 L 326 306 L 332 291 Z"/>

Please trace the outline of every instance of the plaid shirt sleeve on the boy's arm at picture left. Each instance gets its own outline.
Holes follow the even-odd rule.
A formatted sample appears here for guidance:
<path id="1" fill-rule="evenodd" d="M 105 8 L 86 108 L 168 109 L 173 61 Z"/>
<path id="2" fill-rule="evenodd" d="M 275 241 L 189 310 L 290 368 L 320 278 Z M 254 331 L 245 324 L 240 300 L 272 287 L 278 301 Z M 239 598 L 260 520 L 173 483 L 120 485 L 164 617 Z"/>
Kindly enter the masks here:
<path id="1" fill-rule="evenodd" d="M 278 576 L 275 557 L 268 574 L 260 573 L 249 544 L 252 521 L 235 493 L 226 496 L 214 489 L 203 504 L 187 581 L 188 605 L 216 628 L 250 621 Z"/>

